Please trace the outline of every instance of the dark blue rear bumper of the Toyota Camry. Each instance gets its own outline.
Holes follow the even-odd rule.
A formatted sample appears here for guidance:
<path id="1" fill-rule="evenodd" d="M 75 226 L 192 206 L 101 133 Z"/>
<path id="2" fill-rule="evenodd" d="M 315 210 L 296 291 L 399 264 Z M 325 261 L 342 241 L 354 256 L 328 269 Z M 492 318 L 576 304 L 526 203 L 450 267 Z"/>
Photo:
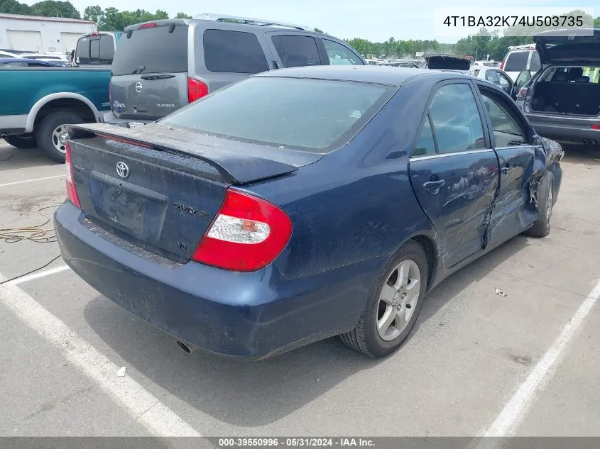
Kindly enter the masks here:
<path id="1" fill-rule="evenodd" d="M 369 294 L 371 260 L 302 279 L 273 267 L 238 273 L 188 262 L 167 267 L 85 225 L 68 201 L 55 213 L 67 265 L 98 292 L 179 340 L 212 353 L 260 359 L 347 332 Z M 374 281 L 373 281 L 374 282 Z"/>

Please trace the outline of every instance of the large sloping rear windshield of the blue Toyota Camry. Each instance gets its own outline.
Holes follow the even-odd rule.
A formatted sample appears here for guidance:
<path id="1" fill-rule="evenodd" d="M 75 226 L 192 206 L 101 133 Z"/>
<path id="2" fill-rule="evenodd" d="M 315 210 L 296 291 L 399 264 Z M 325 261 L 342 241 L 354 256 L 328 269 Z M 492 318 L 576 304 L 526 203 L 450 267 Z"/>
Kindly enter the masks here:
<path id="1" fill-rule="evenodd" d="M 327 153 L 353 138 L 396 89 L 253 77 L 205 96 L 160 123 L 232 140 Z"/>

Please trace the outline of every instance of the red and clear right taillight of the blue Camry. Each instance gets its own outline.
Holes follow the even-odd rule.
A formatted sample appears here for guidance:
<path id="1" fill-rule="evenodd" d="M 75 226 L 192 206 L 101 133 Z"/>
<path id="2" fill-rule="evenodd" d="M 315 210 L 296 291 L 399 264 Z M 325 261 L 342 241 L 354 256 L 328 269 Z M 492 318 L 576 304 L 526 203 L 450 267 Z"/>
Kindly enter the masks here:
<path id="1" fill-rule="evenodd" d="M 274 204 L 227 189 L 225 201 L 192 260 L 234 271 L 260 270 L 288 244 L 292 221 Z"/>

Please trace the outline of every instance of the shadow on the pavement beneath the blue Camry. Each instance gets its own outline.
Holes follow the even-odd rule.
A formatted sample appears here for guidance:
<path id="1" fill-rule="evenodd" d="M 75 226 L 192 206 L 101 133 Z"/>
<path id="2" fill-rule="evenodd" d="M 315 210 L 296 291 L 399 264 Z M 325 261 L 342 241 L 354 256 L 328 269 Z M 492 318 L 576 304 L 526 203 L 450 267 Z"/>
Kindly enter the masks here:
<path id="1" fill-rule="evenodd" d="M 527 245 L 513 238 L 459 270 L 427 296 L 419 326 L 475 280 Z M 337 338 L 328 338 L 267 360 L 220 357 L 200 350 L 184 353 L 175 339 L 133 316 L 104 296 L 84 308 L 84 318 L 128 367 L 214 419 L 241 427 L 264 426 L 288 416 L 357 372 L 376 367 Z M 392 357 L 402 357 L 402 348 Z"/>

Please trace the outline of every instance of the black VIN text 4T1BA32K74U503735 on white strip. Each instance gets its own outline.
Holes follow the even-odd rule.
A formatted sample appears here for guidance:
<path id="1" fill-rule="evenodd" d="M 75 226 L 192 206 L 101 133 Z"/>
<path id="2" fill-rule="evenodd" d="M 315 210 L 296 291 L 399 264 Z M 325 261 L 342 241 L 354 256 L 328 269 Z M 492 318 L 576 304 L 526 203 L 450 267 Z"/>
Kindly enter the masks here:
<path id="1" fill-rule="evenodd" d="M 583 16 L 446 16 L 444 25 L 467 26 L 560 26 L 567 28 L 584 25 Z"/>

